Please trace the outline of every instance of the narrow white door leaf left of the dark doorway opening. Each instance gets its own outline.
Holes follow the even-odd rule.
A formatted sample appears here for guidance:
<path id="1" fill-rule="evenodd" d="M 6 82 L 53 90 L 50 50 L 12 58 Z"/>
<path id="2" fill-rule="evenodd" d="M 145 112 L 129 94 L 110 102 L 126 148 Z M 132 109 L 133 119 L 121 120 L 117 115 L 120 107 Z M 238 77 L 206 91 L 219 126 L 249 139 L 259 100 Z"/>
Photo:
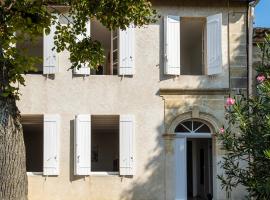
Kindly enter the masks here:
<path id="1" fill-rule="evenodd" d="M 186 137 L 175 140 L 175 200 L 187 200 L 187 139 Z"/>

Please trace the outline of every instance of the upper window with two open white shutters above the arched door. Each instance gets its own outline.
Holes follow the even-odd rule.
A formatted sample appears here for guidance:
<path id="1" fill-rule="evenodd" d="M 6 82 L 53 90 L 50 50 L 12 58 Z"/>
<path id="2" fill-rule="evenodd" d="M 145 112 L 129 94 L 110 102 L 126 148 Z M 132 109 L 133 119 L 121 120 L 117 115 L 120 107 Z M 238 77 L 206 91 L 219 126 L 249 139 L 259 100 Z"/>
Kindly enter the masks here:
<path id="1" fill-rule="evenodd" d="M 215 75 L 222 72 L 222 14 L 164 18 L 164 73 Z"/>

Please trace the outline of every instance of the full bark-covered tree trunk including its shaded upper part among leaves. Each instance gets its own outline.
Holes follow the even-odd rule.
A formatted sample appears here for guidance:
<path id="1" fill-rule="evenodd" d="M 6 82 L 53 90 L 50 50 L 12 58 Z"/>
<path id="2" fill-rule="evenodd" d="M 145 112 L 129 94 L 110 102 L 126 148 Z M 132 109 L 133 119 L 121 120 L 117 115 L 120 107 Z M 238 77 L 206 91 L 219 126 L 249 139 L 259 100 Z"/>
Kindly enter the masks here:
<path id="1" fill-rule="evenodd" d="M 8 24 L 5 13 L 2 12 L 0 18 L 0 28 L 4 31 Z M 4 57 L 2 39 L 5 37 L 0 38 L 0 200 L 27 200 L 26 157 L 20 112 L 14 93 L 3 96 L 13 84 L 10 71 L 14 66 Z"/>

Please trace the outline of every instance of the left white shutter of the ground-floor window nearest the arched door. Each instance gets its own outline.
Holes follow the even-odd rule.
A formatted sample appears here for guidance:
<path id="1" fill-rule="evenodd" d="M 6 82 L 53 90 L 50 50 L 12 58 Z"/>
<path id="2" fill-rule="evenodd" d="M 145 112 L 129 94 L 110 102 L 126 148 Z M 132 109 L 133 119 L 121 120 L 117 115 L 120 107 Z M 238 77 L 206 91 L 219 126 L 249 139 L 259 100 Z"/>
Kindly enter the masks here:
<path id="1" fill-rule="evenodd" d="M 75 117 L 75 175 L 89 175 L 91 172 L 91 116 Z"/>

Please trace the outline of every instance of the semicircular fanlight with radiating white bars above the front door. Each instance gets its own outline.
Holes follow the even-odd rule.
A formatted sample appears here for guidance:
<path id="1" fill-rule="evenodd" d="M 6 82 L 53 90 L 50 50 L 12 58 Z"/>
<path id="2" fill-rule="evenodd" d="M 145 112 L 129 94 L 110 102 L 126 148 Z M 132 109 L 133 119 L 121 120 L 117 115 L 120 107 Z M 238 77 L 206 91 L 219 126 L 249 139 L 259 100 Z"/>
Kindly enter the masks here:
<path id="1" fill-rule="evenodd" d="M 203 122 L 198 120 L 186 120 L 180 122 L 175 128 L 175 133 L 191 133 L 191 134 L 210 134 L 210 128 Z"/>

